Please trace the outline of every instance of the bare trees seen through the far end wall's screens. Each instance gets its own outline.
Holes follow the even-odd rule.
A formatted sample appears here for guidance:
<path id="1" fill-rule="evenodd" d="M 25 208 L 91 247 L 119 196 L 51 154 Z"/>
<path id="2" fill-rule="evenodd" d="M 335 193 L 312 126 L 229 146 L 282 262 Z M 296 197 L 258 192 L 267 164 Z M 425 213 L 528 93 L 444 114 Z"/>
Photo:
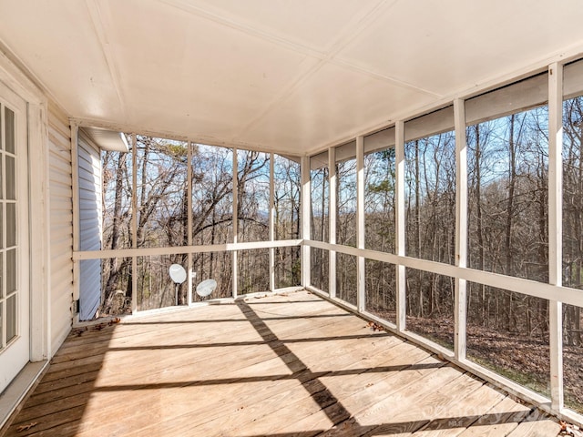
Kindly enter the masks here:
<path id="1" fill-rule="evenodd" d="M 131 144 L 131 138 L 128 137 Z M 188 143 L 138 136 L 136 140 L 136 248 L 209 246 L 233 241 L 233 150 L 192 145 L 190 180 Z M 134 247 L 132 233 L 132 154 L 103 152 L 103 249 Z M 299 238 L 300 165 L 273 155 L 274 239 Z M 237 152 L 237 220 L 239 242 L 270 239 L 270 154 Z M 188 184 L 191 184 L 189 229 Z M 189 235 L 190 232 L 190 235 Z M 270 290 L 270 249 L 238 251 L 238 293 Z M 275 287 L 300 283 L 300 249 L 273 249 Z M 232 295 L 230 251 L 192 254 L 193 286 L 215 279 L 211 298 Z M 131 311 L 135 294 L 138 310 L 174 305 L 175 288 L 169 266 L 188 266 L 188 254 L 138 257 L 138 290 L 132 290 L 132 260 L 102 262 L 101 313 Z M 179 286 L 179 303 L 187 303 L 187 283 Z M 200 299 L 193 293 L 193 300 Z"/>

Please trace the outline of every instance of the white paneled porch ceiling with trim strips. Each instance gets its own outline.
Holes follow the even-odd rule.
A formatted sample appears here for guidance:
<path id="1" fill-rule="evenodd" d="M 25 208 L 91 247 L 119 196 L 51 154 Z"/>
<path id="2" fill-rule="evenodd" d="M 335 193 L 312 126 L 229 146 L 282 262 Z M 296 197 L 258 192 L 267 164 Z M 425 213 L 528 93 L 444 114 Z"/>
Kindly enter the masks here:
<path id="1" fill-rule="evenodd" d="M 0 0 L 70 117 L 300 154 L 583 50 L 581 0 Z"/>

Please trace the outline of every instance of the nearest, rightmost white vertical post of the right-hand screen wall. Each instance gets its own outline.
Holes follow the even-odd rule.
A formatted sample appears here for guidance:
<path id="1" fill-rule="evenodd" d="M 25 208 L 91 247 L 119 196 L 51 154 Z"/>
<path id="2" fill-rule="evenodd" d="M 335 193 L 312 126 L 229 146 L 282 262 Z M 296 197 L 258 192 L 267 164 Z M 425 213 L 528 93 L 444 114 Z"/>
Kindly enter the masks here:
<path id="1" fill-rule="evenodd" d="M 562 285 L 563 66 L 548 68 L 548 281 Z M 549 300 L 551 408 L 563 408 L 562 303 Z"/>

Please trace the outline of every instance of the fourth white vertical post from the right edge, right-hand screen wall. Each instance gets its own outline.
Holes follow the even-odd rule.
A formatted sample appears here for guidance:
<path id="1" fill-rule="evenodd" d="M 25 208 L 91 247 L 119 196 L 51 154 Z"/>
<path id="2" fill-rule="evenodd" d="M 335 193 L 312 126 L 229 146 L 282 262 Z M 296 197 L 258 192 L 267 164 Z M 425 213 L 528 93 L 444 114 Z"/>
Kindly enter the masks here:
<path id="1" fill-rule="evenodd" d="M 364 249 L 364 137 L 356 137 L 356 247 Z M 356 268 L 356 307 L 360 312 L 366 308 L 364 290 L 364 257 L 358 257 Z"/>

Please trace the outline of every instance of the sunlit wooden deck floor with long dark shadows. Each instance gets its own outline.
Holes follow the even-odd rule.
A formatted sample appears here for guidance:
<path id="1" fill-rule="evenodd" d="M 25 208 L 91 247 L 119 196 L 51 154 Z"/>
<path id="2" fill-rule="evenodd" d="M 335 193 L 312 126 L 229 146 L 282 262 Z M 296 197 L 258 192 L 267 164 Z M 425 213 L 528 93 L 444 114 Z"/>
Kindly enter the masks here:
<path id="1" fill-rule="evenodd" d="M 6 435 L 558 431 L 484 381 L 300 291 L 74 330 Z"/>

